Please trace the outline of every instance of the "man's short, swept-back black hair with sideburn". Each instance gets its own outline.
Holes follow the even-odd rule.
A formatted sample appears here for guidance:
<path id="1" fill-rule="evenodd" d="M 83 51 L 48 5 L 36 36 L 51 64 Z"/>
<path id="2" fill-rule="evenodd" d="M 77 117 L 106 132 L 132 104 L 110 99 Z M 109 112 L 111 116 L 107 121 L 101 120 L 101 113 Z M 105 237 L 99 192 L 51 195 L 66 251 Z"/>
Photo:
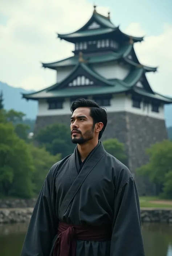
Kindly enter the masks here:
<path id="1" fill-rule="evenodd" d="M 102 122 L 103 128 L 99 132 L 99 138 L 101 139 L 103 132 L 105 131 L 107 125 L 107 112 L 104 108 L 100 107 L 98 103 L 92 101 L 91 99 L 78 98 L 74 101 L 70 107 L 70 110 L 73 114 L 75 109 L 78 107 L 89 107 L 90 108 L 90 117 L 93 118 L 93 125 L 96 123 Z"/>

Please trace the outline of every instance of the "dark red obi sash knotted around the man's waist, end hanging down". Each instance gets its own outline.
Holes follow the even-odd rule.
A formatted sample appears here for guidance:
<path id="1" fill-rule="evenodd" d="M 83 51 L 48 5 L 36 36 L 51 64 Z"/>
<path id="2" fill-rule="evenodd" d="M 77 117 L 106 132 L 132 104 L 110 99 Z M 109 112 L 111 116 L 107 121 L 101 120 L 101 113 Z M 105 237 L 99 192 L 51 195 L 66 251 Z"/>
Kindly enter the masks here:
<path id="1" fill-rule="evenodd" d="M 54 247 L 53 256 L 75 256 L 76 241 L 108 241 L 111 240 L 109 226 L 69 225 L 58 224 L 58 237 Z"/>

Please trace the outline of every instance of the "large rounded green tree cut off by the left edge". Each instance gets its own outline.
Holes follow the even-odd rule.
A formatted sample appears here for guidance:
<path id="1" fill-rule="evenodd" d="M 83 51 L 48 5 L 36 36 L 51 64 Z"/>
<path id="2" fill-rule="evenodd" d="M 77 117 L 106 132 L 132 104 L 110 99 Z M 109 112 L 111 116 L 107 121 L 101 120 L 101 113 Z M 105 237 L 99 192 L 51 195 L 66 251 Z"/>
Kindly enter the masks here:
<path id="1" fill-rule="evenodd" d="M 0 188 L 5 196 L 32 196 L 32 156 L 12 123 L 0 123 Z"/>

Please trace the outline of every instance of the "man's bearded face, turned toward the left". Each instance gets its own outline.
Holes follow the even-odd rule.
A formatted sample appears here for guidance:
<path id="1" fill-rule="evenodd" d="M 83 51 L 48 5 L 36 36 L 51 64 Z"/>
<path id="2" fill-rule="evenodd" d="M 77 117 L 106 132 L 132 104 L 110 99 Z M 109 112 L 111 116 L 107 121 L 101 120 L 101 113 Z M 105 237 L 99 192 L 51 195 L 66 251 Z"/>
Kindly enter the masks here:
<path id="1" fill-rule="evenodd" d="M 93 118 L 88 107 L 78 107 L 71 117 L 71 140 L 75 144 L 83 144 L 94 138 Z"/>

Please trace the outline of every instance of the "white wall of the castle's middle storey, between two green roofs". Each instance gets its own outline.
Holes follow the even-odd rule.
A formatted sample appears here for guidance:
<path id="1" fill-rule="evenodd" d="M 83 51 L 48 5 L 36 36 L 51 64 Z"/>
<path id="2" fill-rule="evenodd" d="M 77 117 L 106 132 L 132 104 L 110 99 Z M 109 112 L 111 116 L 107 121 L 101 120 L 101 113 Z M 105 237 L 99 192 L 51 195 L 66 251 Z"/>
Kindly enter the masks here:
<path id="1" fill-rule="evenodd" d="M 94 64 L 91 68 L 106 79 L 117 78 L 123 80 L 130 71 L 127 66 L 119 65 L 116 62 Z"/>

